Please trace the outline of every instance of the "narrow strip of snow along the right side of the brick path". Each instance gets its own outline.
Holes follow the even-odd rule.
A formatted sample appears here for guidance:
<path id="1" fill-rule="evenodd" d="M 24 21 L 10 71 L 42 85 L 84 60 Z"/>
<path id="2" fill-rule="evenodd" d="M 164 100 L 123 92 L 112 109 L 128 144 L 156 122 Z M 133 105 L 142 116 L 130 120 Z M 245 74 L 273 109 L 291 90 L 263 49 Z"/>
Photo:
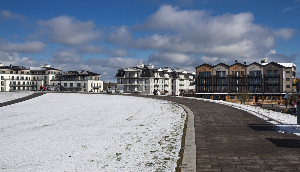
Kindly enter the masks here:
<path id="1" fill-rule="evenodd" d="M 251 114 L 254 114 L 258 116 L 259 118 L 268 120 L 268 118 L 274 119 L 282 124 L 278 124 L 276 121 L 268 121 L 276 126 L 278 126 L 278 131 L 285 132 L 285 133 L 293 133 L 298 136 L 300 136 L 300 126 L 297 124 L 297 117 L 291 114 L 281 113 L 281 112 L 275 112 L 268 109 L 263 109 L 261 107 L 246 105 L 246 104 L 240 104 L 240 103 L 232 103 L 232 102 L 226 102 L 226 101 L 220 101 L 220 100 L 211 100 L 211 99 L 201 99 L 201 98 L 193 98 L 193 97 L 183 97 L 183 98 L 189 98 L 189 99 L 198 99 L 198 100 L 204 100 L 204 101 L 210 101 L 220 104 L 226 104 L 229 106 L 232 106 L 237 109 L 245 110 Z M 268 118 L 265 118 L 261 115 L 264 115 Z"/>

